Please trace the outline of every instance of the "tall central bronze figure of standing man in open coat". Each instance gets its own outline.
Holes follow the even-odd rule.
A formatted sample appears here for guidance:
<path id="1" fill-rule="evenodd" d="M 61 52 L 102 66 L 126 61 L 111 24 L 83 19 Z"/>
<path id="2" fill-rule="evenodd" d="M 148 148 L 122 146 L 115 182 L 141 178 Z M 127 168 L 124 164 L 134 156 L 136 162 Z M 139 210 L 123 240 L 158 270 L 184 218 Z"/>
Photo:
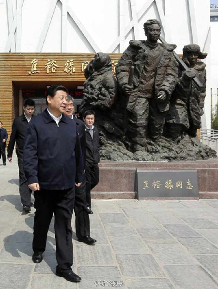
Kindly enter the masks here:
<path id="1" fill-rule="evenodd" d="M 162 136 L 169 101 L 175 88 L 178 68 L 175 45 L 158 43 L 161 24 L 144 23 L 147 40 L 131 40 L 116 66 L 116 76 L 126 102 L 126 142 L 132 151 L 145 151 L 146 138 Z M 134 66 L 132 84 L 128 84 Z"/>

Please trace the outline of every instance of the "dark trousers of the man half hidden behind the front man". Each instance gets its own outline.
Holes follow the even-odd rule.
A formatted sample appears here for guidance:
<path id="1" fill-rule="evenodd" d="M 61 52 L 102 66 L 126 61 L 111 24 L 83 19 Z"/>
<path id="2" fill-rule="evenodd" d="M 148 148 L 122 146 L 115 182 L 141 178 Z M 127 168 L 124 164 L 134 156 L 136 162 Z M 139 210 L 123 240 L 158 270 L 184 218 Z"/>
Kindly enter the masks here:
<path id="1" fill-rule="evenodd" d="M 77 238 L 90 236 L 90 221 L 86 204 L 86 180 L 83 175 L 83 181 L 80 187 L 75 187 L 74 211 L 76 217 Z"/>

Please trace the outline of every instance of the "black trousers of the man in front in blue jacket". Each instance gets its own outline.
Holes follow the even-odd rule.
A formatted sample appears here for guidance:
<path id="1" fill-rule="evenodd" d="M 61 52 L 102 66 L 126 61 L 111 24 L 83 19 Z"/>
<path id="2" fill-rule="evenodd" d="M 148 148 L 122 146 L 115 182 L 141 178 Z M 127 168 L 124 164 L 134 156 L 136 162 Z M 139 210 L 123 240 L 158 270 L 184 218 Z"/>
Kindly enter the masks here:
<path id="1" fill-rule="evenodd" d="M 71 272 L 73 265 L 73 244 L 71 218 L 75 202 L 75 189 L 40 189 L 34 192 L 36 208 L 32 249 L 43 253 L 46 250 L 47 231 L 54 213 L 56 258 L 60 270 Z"/>

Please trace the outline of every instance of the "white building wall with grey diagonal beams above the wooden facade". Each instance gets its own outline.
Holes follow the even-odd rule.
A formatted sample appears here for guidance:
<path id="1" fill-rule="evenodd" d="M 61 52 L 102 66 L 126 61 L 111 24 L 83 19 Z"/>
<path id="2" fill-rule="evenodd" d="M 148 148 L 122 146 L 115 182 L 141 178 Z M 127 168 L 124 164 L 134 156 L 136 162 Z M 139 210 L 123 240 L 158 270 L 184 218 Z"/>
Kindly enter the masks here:
<path id="1" fill-rule="evenodd" d="M 209 0 L 0 0 L 0 52 L 123 52 L 144 39 L 143 23 L 160 20 L 162 36 L 208 52 L 202 124 L 210 128 Z"/>

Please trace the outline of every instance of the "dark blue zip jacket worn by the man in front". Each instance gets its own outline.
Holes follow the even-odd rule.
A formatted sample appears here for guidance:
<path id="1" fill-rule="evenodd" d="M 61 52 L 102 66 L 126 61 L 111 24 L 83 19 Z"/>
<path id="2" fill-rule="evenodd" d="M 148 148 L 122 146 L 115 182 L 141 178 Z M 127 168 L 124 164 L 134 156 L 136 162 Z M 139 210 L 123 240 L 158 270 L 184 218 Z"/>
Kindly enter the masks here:
<path id="1" fill-rule="evenodd" d="M 47 109 L 31 120 L 24 145 L 24 171 L 28 184 L 63 190 L 82 181 L 83 158 L 73 119 L 62 114 L 59 127 Z"/>

